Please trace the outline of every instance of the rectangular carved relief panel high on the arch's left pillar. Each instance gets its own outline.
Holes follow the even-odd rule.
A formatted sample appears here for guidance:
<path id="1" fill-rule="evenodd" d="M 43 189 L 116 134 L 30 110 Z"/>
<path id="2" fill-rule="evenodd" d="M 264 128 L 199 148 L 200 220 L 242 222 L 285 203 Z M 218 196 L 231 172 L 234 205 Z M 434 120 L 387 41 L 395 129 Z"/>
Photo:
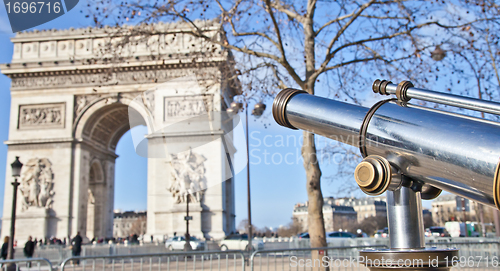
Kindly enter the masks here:
<path id="1" fill-rule="evenodd" d="M 65 103 L 19 106 L 19 129 L 64 128 Z"/>

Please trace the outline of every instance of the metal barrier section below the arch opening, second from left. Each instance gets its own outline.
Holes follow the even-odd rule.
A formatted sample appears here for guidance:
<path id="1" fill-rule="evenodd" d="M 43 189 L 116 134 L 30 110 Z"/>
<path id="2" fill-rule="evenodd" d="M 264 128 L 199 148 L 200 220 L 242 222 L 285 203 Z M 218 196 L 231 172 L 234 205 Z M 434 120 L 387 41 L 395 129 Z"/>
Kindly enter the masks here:
<path id="1" fill-rule="evenodd" d="M 245 270 L 241 251 L 197 251 L 136 255 L 70 257 L 61 263 L 61 271 L 121 270 Z"/>

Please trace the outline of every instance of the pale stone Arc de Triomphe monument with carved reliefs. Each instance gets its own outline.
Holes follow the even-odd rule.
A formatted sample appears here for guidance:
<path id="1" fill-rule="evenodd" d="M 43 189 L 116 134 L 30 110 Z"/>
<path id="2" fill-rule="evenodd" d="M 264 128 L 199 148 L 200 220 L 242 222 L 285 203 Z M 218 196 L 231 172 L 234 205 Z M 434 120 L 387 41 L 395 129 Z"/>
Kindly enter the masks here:
<path id="1" fill-rule="evenodd" d="M 227 51 L 182 34 L 182 25 L 148 27 L 154 34 L 129 37 L 130 42 L 120 47 L 127 53 L 119 62 L 109 61 L 113 56 L 103 53 L 111 40 L 110 28 L 33 31 L 12 38 L 12 62 L 0 65 L 12 79 L 2 236 L 10 230 L 10 162 L 15 156 L 24 163 L 17 201 L 18 242 L 29 235 L 62 239 L 77 231 L 89 239 L 112 237 L 116 144 L 130 129 L 129 108 L 144 119 L 148 115 L 144 108 L 134 107 L 133 100 L 143 96 L 148 109 L 168 124 L 203 113 L 193 110 L 224 111 L 239 94 L 223 80 L 231 71 Z M 217 25 L 207 25 L 207 33 L 223 38 L 217 30 Z M 210 57 L 202 57 L 205 52 Z M 201 93 L 179 88 L 188 84 L 182 78 L 190 74 L 199 79 Z M 159 85 L 162 92 L 145 95 Z M 219 128 L 221 134 L 224 130 Z M 227 146 L 221 140 L 196 143 L 210 133 L 214 131 L 186 129 L 163 134 L 159 141 L 197 146 L 183 154 L 184 164 L 194 165 L 198 178 L 212 185 L 198 202 L 189 204 L 190 232 L 221 238 L 235 229 L 234 181 L 226 180 Z M 151 149 L 155 139 L 148 141 Z M 148 158 L 146 234 L 157 238 L 185 232 L 186 204 L 172 192 L 174 173 L 179 173 L 172 159 Z"/>

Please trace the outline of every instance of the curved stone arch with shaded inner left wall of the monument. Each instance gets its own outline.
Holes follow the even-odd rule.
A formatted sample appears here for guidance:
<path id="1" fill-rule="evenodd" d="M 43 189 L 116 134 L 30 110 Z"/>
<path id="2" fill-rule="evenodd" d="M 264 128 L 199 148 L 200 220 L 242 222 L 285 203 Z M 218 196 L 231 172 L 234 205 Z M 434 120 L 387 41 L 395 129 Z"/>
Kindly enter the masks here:
<path id="1" fill-rule="evenodd" d="M 84 207 L 79 215 L 80 231 L 89 240 L 111 238 L 113 234 L 115 151 L 120 138 L 131 128 L 129 114 L 141 119 L 135 125 L 146 125 L 148 130 L 150 127 L 145 121 L 147 110 L 132 98 L 100 97 L 87 105 L 75 120 L 74 137 L 83 143 L 80 147 L 91 157 L 88 167 L 83 167 L 88 168 L 85 170 L 88 183 L 81 184 L 80 194 L 86 194 L 86 199 L 81 201 Z"/>

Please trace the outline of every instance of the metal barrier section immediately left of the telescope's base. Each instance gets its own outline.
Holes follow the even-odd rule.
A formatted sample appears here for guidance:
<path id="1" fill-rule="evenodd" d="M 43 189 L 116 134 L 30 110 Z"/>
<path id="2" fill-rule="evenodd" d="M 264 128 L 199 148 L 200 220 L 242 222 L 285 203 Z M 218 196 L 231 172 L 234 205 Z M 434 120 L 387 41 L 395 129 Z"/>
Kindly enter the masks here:
<path id="1" fill-rule="evenodd" d="M 329 270 L 368 270 L 358 262 L 359 251 L 362 249 L 379 248 L 387 246 L 346 246 L 323 248 L 291 248 L 255 251 L 250 256 L 250 270 L 313 270 L 318 265 L 312 259 L 312 252 L 318 251 L 320 255 L 328 258 L 322 266 Z"/>

